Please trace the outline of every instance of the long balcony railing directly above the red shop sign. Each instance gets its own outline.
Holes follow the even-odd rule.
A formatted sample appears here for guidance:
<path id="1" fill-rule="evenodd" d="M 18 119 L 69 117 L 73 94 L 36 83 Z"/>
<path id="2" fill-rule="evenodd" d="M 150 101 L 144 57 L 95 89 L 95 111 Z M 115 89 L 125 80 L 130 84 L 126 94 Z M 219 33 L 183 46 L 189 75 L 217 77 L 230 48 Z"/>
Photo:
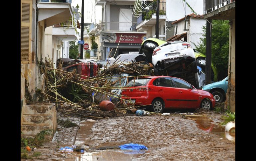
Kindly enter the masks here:
<path id="1" fill-rule="evenodd" d="M 137 22 L 101 22 L 96 25 L 98 31 L 137 31 Z"/>

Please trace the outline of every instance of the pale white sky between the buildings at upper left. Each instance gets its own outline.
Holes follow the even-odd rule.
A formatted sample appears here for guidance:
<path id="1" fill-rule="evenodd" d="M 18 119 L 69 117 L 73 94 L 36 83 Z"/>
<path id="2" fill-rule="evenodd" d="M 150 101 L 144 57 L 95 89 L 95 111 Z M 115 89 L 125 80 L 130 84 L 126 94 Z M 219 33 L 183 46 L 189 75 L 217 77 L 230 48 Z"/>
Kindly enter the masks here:
<path id="1" fill-rule="evenodd" d="M 101 20 L 101 6 L 94 6 L 95 0 L 84 0 L 83 1 L 83 14 L 84 14 L 84 23 L 99 23 L 99 20 Z M 82 13 L 82 0 L 72 0 L 71 6 L 79 5 L 79 12 Z M 96 17 L 95 17 L 96 15 Z M 79 22 L 81 23 L 81 17 Z"/>

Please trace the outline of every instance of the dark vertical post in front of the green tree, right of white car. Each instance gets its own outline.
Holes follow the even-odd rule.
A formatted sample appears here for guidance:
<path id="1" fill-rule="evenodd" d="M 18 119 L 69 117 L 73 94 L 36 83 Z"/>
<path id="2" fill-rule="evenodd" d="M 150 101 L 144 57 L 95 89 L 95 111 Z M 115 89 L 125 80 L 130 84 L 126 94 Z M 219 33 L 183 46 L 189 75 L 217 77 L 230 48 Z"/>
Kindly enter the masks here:
<path id="1" fill-rule="evenodd" d="M 211 83 L 211 20 L 206 21 L 205 85 Z"/>

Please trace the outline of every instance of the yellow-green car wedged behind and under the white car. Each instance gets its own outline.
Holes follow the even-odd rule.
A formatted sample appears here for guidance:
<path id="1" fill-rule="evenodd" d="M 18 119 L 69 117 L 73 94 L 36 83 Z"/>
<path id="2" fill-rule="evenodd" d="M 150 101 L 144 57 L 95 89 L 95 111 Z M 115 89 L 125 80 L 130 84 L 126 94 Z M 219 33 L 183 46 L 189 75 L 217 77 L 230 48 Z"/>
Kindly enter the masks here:
<path id="1" fill-rule="evenodd" d="M 166 42 L 167 41 L 165 41 L 165 40 L 160 40 L 160 39 L 156 39 L 156 38 L 148 38 L 141 43 L 139 53 L 140 54 L 144 53 L 146 55 L 146 60 L 149 63 L 152 63 L 152 54 L 153 54 L 154 49 L 157 46 L 160 46 Z M 194 53 L 195 53 L 195 60 L 196 60 L 197 66 L 201 67 L 204 72 L 206 56 L 196 50 L 194 50 Z M 216 69 L 216 66 L 213 63 L 211 63 L 211 80 L 213 82 L 216 82 L 218 80 L 218 71 Z"/>

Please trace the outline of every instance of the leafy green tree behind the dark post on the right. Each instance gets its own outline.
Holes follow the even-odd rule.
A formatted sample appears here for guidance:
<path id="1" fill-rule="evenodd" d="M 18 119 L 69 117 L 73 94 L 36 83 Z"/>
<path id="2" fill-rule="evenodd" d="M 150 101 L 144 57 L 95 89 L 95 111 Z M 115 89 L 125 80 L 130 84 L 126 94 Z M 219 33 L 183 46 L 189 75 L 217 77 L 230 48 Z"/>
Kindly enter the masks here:
<path id="1" fill-rule="evenodd" d="M 228 20 L 212 20 L 212 24 L 211 60 L 217 67 L 218 79 L 222 80 L 228 75 L 229 25 Z M 206 26 L 202 29 L 204 38 L 200 38 L 200 43 L 194 45 L 197 51 L 206 54 Z"/>

